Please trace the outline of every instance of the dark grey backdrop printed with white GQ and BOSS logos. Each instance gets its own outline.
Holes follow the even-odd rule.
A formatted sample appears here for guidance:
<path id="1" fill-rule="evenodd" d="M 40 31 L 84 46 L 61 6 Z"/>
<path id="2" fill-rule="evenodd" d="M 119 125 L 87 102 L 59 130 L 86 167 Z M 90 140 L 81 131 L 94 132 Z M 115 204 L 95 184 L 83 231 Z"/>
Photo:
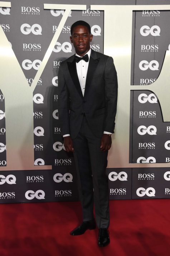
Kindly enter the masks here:
<path id="1" fill-rule="evenodd" d="M 69 37 L 71 25 L 77 20 L 85 20 L 91 25 L 91 48 L 103 53 L 104 12 L 90 10 L 91 3 L 87 2 L 86 10 L 69 13 L 33 92 L 34 165 L 51 165 L 52 169 L 1 171 L 0 203 L 78 200 L 74 158 L 72 153 L 65 151 L 60 133 L 58 70 L 60 63 L 74 54 Z M 129 4 L 141 4 L 138 2 L 131 1 Z M 170 1 L 164 4 L 167 2 L 170 4 Z M 47 0 L 45 3 L 52 4 L 54 1 Z M 106 4 L 114 3 L 106 1 Z M 41 0 L 13 0 L 11 8 L 0 7 L 1 28 L 28 81 L 27 86 L 33 83 L 63 14 L 64 10 L 44 9 Z M 156 81 L 165 51 L 170 50 L 169 24 L 169 11 L 133 12 L 132 85 L 143 87 Z M 10 70 L 6 76 L 10 77 Z M 10 79 L 13 84 L 13 77 Z M 11 98 L 15 99 L 15 95 Z M 20 115 L 24 113 L 21 111 Z M 130 115 L 130 162 L 170 162 L 170 123 L 162 121 L 156 95 L 143 88 L 142 91 L 131 91 Z M 1 90 L 0 170 L 1 167 L 8 167 L 5 128 L 5 98 Z M 107 175 L 110 199 L 170 198 L 170 168 L 108 168 Z"/>

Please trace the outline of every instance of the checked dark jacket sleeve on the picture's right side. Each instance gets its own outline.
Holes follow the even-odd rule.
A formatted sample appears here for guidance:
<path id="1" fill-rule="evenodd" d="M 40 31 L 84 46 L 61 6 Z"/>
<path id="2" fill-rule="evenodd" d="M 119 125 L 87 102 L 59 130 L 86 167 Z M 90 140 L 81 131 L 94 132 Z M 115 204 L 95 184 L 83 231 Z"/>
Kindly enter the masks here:
<path id="1" fill-rule="evenodd" d="M 113 58 L 108 57 L 105 65 L 105 122 L 104 131 L 114 133 L 115 117 L 117 110 L 117 72 L 113 63 Z"/>

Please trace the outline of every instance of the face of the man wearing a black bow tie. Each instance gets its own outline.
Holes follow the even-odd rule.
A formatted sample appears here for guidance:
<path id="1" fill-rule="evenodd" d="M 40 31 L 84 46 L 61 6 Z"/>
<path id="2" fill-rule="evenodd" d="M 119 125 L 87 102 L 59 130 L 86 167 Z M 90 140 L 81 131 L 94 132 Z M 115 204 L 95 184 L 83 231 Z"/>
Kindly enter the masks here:
<path id="1" fill-rule="evenodd" d="M 84 56 L 84 54 L 89 51 L 92 38 L 93 35 L 89 34 L 87 27 L 78 25 L 73 28 L 73 33 L 70 40 L 79 56 Z"/>

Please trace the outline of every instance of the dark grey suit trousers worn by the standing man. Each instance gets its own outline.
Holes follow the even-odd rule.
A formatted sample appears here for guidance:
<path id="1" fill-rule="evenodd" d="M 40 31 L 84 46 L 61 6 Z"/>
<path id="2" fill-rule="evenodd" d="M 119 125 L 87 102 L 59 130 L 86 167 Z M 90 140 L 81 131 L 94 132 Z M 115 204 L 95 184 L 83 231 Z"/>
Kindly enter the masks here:
<path id="1" fill-rule="evenodd" d="M 94 218 L 94 202 L 98 228 L 108 228 L 109 198 L 106 176 L 108 151 L 102 152 L 100 144 L 101 138 L 94 136 L 84 116 L 78 136 L 73 139 L 83 221 Z"/>

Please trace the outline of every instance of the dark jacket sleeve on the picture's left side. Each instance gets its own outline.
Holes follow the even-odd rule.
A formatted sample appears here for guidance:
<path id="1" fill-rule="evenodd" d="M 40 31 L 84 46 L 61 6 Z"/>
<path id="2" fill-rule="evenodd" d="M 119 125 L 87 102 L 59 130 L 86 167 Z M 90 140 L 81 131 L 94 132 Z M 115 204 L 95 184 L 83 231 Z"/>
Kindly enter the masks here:
<path id="1" fill-rule="evenodd" d="M 58 116 L 62 136 L 70 134 L 69 128 L 69 92 L 65 83 L 62 65 L 58 71 Z"/>

